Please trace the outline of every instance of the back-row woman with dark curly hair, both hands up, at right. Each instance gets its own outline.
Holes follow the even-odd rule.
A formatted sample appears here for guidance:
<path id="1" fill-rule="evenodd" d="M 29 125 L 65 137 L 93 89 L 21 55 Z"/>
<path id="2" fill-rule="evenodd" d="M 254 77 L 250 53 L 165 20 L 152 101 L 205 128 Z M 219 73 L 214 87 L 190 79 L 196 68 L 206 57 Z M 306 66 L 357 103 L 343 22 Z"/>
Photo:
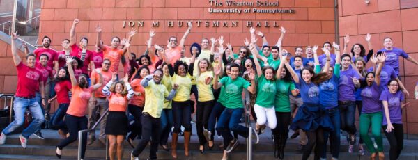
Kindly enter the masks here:
<path id="1" fill-rule="evenodd" d="M 362 44 L 356 43 L 353 45 L 353 47 L 351 47 L 351 56 L 352 61 L 354 62 L 357 58 L 362 57 L 364 58 L 364 61 L 369 61 L 369 59 L 371 58 L 371 56 L 373 55 L 373 47 L 371 45 L 371 35 L 367 34 L 366 35 L 366 41 L 367 41 L 367 45 L 369 45 L 369 52 L 366 55 L 366 49 L 364 49 Z M 347 53 L 347 47 L 348 47 L 348 43 L 350 42 L 350 36 L 346 35 L 346 37 L 344 37 L 344 54 L 348 54 Z"/>

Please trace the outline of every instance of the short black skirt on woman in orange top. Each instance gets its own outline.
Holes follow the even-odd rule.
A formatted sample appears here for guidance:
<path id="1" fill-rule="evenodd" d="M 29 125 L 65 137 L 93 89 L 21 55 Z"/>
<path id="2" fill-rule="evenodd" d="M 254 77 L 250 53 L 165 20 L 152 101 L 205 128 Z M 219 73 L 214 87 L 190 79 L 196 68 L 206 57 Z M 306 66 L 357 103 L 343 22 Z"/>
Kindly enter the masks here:
<path id="1" fill-rule="evenodd" d="M 128 124 L 125 112 L 109 111 L 104 134 L 125 136 L 127 134 Z"/>

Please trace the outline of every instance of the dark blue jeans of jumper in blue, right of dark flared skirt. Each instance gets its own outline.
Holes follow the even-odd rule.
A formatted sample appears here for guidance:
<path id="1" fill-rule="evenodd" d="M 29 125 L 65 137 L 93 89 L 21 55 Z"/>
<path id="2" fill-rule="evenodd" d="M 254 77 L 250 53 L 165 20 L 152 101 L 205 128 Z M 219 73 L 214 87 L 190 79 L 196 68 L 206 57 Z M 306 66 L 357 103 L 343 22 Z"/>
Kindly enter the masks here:
<path id="1" fill-rule="evenodd" d="M 334 131 L 324 131 L 324 145 L 323 145 L 323 152 L 321 154 L 321 158 L 327 157 L 327 141 L 328 137 L 330 137 L 330 151 L 332 157 L 338 159 L 339 157 L 339 149 L 340 149 L 340 128 L 341 128 L 341 121 L 340 121 L 340 111 L 338 107 L 333 109 L 325 109 L 325 113 L 330 116 L 332 125 L 334 125 Z"/>

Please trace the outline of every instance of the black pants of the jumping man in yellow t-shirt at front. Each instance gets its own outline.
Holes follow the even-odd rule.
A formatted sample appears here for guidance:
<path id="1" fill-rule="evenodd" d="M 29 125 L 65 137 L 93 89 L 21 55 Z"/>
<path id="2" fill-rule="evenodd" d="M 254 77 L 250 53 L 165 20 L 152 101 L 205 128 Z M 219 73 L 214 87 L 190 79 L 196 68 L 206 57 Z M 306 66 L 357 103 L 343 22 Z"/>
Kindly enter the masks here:
<path id="1" fill-rule="evenodd" d="M 138 157 L 152 139 L 149 158 L 157 159 L 158 143 L 160 143 L 161 120 L 160 118 L 153 118 L 151 115 L 145 113 L 141 116 L 141 122 L 142 139 L 133 151 L 134 157 Z"/>

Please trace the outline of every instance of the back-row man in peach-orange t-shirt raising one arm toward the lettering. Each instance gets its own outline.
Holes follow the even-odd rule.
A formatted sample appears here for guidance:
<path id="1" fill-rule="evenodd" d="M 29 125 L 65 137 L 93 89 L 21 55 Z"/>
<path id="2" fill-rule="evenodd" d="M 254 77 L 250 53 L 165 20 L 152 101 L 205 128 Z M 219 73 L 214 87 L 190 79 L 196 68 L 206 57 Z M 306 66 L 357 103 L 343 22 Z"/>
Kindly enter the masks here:
<path id="1" fill-rule="evenodd" d="M 182 46 L 185 45 L 187 35 L 189 35 L 190 31 L 192 30 L 192 22 L 187 22 L 187 25 L 187 31 L 185 35 L 183 35 L 183 38 L 181 38 L 180 44 L 177 44 L 177 38 L 175 36 L 171 36 L 167 42 L 167 49 L 165 50 L 165 54 L 167 55 L 167 58 L 169 58 L 171 65 L 174 65 L 174 63 L 180 59 Z"/>

